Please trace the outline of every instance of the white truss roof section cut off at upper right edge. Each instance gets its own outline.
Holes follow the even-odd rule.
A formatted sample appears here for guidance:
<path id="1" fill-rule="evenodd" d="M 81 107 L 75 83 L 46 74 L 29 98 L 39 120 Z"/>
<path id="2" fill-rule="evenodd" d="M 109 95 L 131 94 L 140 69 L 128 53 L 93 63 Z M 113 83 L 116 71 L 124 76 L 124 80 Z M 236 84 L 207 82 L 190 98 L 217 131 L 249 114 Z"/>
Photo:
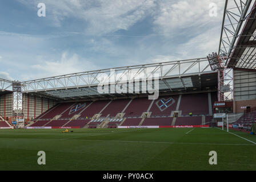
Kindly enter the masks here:
<path id="1" fill-rule="evenodd" d="M 219 55 L 227 68 L 256 70 L 256 2 L 227 1 Z"/>

